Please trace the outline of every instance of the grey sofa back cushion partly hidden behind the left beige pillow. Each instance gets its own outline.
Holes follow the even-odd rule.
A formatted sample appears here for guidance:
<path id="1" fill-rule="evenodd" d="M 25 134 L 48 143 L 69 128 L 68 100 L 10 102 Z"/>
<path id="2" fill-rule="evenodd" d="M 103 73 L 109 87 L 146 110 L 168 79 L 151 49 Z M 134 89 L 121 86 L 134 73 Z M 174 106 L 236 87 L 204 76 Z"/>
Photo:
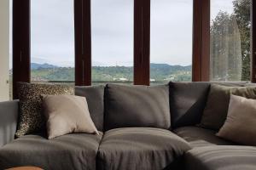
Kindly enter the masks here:
<path id="1" fill-rule="evenodd" d="M 77 86 L 75 95 L 86 98 L 92 121 L 97 130 L 103 131 L 104 86 Z"/>

